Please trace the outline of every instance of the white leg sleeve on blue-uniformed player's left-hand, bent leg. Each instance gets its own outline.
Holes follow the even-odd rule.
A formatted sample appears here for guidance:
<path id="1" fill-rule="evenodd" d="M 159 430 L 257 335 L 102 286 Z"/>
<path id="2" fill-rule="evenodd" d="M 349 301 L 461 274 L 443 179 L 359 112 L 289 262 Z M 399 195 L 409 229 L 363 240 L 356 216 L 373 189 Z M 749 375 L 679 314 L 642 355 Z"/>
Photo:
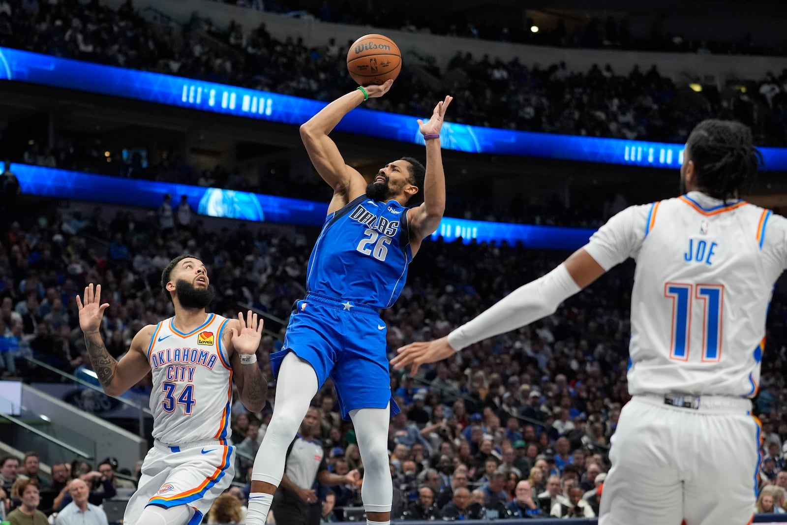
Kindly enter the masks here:
<path id="1" fill-rule="evenodd" d="M 288 353 L 279 368 L 271 423 L 268 423 L 268 430 L 254 459 L 253 481 L 279 486 L 287 449 L 301 427 L 309 403 L 316 393 L 317 375 L 312 365 L 294 353 Z"/>

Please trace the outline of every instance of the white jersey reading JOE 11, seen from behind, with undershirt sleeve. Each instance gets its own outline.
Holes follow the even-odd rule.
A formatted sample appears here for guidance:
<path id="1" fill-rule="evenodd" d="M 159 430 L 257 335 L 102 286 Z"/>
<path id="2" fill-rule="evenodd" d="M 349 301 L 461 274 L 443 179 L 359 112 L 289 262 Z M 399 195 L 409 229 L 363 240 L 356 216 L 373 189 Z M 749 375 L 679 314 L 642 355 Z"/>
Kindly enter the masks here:
<path id="1" fill-rule="evenodd" d="M 693 191 L 623 210 L 586 250 L 604 269 L 637 261 L 630 394 L 756 394 L 787 220 Z"/>

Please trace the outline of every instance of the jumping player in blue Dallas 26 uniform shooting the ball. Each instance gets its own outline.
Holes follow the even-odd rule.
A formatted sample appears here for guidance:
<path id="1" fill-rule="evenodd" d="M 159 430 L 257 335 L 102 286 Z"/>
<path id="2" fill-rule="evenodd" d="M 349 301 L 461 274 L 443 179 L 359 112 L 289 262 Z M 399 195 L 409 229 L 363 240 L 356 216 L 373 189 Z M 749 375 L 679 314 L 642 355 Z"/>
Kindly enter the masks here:
<path id="1" fill-rule="evenodd" d="M 399 408 L 391 398 L 386 326 L 378 311 L 397 300 L 408 264 L 442 219 L 440 130 L 452 98 L 439 102 L 427 122 L 418 120 L 426 141 L 426 168 L 413 158 L 400 158 L 380 168 L 367 183 L 345 165 L 328 134 L 367 94 L 381 97 L 392 83 L 345 94 L 301 126 L 309 158 L 334 196 L 309 257 L 306 296 L 293 306 L 283 349 L 271 355 L 279 383 L 271 423 L 254 462 L 248 525 L 265 523 L 279 483 L 305 505 L 316 501 L 312 491 L 294 486 L 283 470 L 287 448 L 309 402 L 329 377 L 342 417 L 353 420 L 364 461 L 361 497 L 367 523 L 390 523 L 388 423 Z M 423 203 L 408 207 L 416 199 Z"/>

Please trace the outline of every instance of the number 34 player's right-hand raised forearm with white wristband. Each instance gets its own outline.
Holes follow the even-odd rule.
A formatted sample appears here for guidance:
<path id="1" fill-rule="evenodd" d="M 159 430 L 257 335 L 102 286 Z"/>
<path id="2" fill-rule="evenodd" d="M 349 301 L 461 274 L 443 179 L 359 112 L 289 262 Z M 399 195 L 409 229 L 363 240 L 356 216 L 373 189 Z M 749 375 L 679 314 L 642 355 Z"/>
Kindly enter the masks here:
<path id="1" fill-rule="evenodd" d="M 263 321 L 257 324 L 257 314 L 249 310 L 246 321 L 238 312 L 238 319 L 230 320 L 221 342 L 231 352 L 230 363 L 235 372 L 241 402 L 250 412 L 261 412 L 268 400 L 268 379 L 257 363 L 257 349 L 262 338 Z"/>

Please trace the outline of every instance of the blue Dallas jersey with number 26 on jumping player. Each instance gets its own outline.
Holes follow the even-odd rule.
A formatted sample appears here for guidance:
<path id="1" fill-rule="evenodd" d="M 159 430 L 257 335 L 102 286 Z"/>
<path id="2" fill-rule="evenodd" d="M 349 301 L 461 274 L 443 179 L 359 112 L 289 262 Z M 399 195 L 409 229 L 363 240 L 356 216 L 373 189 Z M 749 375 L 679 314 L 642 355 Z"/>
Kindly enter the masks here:
<path id="1" fill-rule="evenodd" d="M 407 208 L 365 194 L 327 216 L 309 257 L 309 294 L 389 308 L 412 261 Z"/>

